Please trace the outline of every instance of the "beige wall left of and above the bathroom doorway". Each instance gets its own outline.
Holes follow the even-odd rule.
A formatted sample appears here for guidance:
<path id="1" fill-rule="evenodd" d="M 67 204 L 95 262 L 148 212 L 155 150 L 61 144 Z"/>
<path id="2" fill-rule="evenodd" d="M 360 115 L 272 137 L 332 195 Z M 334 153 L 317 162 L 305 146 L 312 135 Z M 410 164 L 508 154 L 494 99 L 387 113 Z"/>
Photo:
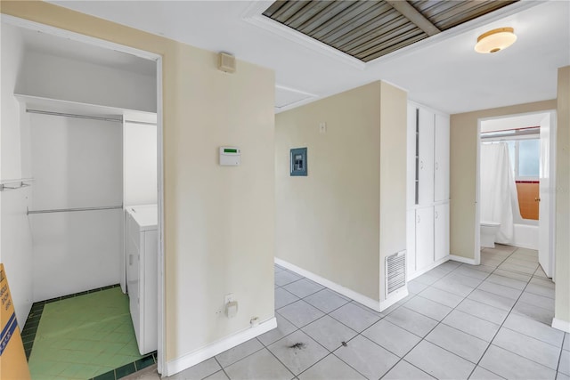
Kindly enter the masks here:
<path id="1" fill-rule="evenodd" d="M 477 120 L 556 109 L 556 101 L 538 101 L 451 116 L 450 130 L 450 250 L 452 255 L 475 257 Z"/>

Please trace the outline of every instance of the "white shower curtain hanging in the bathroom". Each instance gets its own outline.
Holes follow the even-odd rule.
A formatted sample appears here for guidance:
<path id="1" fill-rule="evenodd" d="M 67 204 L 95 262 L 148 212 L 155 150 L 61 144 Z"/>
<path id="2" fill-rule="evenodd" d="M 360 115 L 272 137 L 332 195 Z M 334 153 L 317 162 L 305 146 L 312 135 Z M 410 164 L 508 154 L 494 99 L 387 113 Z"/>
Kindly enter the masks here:
<path id="1" fill-rule="evenodd" d="M 481 144 L 480 174 L 481 222 L 500 222 L 495 241 L 512 243 L 514 215 L 519 210 L 517 184 L 505 142 Z"/>

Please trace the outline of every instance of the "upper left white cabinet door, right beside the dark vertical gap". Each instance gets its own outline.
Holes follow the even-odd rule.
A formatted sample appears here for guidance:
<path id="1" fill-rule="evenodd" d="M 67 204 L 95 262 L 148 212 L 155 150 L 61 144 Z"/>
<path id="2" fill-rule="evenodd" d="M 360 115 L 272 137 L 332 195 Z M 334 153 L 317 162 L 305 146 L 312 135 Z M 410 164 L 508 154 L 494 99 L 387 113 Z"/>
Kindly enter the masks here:
<path id="1" fill-rule="evenodd" d="M 434 202 L 434 122 L 433 112 L 419 109 L 419 205 Z"/>

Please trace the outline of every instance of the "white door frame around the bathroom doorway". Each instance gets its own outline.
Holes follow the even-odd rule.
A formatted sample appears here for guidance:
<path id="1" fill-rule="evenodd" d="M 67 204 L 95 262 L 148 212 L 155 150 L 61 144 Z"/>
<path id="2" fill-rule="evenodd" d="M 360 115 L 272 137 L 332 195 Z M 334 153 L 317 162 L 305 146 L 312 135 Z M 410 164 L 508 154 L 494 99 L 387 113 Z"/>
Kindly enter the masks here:
<path id="1" fill-rule="evenodd" d="M 475 218 L 476 218 L 476 223 L 475 223 L 475 262 L 476 265 L 478 265 L 479 263 L 481 263 L 481 241 L 480 241 L 480 237 L 481 237 L 481 229 L 479 227 L 479 223 L 480 223 L 480 206 L 479 206 L 479 197 L 480 197 L 480 190 L 479 190 L 479 186 L 480 186 L 480 174 L 479 174 L 479 166 L 480 166 L 480 161 L 481 161 L 481 123 L 487 120 L 496 120 L 496 119 L 501 119 L 501 118 L 507 118 L 507 117 L 524 117 L 524 116 L 531 116 L 531 115 L 539 115 L 539 114 L 550 114 L 550 131 L 551 133 L 553 133 L 553 136 L 556 136 L 556 130 L 557 130 L 557 113 L 556 113 L 556 109 L 544 109 L 544 110 L 540 110 L 540 111 L 533 111 L 533 112 L 525 112 L 525 113 L 520 113 L 520 114 L 509 114 L 509 115 L 501 115 L 501 116 L 496 116 L 496 117 L 482 117 L 477 119 L 477 143 L 476 143 L 476 207 L 475 207 Z M 550 139 L 550 163 L 556 162 L 556 141 L 553 141 L 552 139 Z M 552 175 L 551 175 L 551 181 L 553 183 L 556 183 L 556 170 L 552 171 Z M 549 217 L 550 217 L 550 225 L 551 225 L 551 229 L 554 230 L 554 220 L 553 220 L 553 215 L 555 215 L 556 213 L 556 196 L 554 193 L 551 194 L 551 199 L 549 202 Z M 540 228 L 540 227 L 539 227 Z M 553 240 L 550 241 L 550 247 L 549 247 L 549 252 L 551 253 L 550 257 L 551 257 L 551 263 L 550 265 L 554 265 L 554 260 L 555 260 L 555 255 L 553 254 L 554 252 L 554 246 L 553 246 Z"/>

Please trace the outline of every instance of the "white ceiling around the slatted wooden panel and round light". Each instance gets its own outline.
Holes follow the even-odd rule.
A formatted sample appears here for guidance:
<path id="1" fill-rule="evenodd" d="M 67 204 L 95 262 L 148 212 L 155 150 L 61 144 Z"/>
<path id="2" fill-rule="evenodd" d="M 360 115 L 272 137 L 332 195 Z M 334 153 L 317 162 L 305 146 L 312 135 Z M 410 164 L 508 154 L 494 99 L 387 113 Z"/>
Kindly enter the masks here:
<path id="1" fill-rule="evenodd" d="M 53 3 L 272 68 L 277 111 L 380 79 L 448 113 L 550 100 L 556 98 L 557 69 L 570 64 L 566 0 L 512 4 L 366 65 L 260 22 L 271 1 Z M 501 27 L 515 28 L 516 44 L 500 53 L 474 52 L 477 36 Z"/>

